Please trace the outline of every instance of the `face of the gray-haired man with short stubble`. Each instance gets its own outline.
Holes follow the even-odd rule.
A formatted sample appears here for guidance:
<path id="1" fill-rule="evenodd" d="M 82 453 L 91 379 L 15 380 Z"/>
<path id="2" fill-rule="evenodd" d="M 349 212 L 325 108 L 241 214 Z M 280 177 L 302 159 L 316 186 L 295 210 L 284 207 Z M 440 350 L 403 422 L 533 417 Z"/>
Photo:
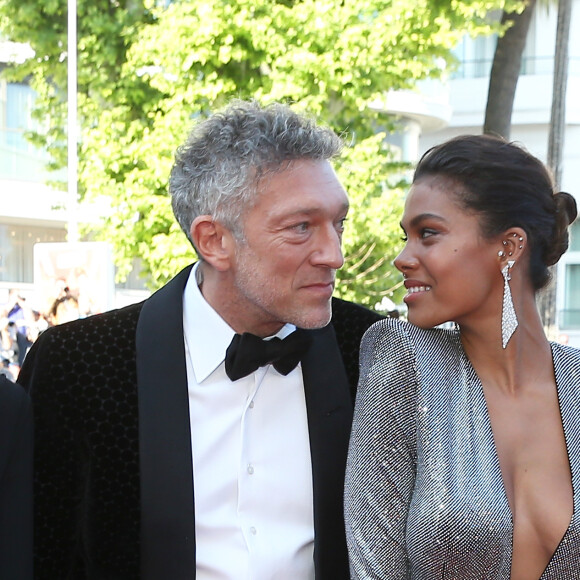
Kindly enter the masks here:
<path id="1" fill-rule="evenodd" d="M 232 257 L 230 325 L 267 336 L 331 316 L 348 199 L 327 161 L 295 161 L 264 179 Z M 233 319 L 232 319 L 233 317 Z"/>

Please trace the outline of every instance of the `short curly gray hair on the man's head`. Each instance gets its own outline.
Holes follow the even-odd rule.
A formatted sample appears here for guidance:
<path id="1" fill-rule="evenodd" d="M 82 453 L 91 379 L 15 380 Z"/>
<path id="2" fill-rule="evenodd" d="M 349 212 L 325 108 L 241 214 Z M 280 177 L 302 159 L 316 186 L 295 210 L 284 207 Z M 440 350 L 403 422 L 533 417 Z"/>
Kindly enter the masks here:
<path id="1" fill-rule="evenodd" d="M 199 122 L 177 150 L 169 179 L 173 213 L 185 235 L 211 215 L 238 239 L 240 217 L 256 201 L 260 179 L 295 160 L 328 160 L 341 152 L 331 129 L 279 103 L 233 101 Z"/>

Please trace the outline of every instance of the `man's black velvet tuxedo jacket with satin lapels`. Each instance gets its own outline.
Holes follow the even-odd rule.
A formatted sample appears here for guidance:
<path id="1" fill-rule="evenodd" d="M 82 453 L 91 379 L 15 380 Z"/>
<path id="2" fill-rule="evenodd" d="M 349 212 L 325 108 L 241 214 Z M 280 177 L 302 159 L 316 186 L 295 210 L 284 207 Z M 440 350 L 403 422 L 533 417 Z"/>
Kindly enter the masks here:
<path id="1" fill-rule="evenodd" d="M 195 578 L 189 272 L 143 303 L 49 329 L 27 355 L 19 382 L 35 416 L 36 578 Z M 346 580 L 342 495 L 358 349 L 380 316 L 340 300 L 333 309 L 333 322 L 312 331 L 302 370 L 316 578 Z"/>

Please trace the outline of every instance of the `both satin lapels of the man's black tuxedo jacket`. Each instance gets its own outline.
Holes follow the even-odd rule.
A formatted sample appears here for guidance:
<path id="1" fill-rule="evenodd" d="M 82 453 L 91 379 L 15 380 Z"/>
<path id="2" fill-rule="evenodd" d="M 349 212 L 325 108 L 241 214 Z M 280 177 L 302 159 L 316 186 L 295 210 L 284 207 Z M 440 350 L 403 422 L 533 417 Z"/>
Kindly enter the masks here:
<path id="1" fill-rule="evenodd" d="M 145 302 L 137 324 L 142 580 L 195 578 L 182 307 L 190 270 Z M 302 372 L 312 454 L 316 577 L 346 580 L 342 506 L 352 402 L 332 325 L 312 335 Z"/>

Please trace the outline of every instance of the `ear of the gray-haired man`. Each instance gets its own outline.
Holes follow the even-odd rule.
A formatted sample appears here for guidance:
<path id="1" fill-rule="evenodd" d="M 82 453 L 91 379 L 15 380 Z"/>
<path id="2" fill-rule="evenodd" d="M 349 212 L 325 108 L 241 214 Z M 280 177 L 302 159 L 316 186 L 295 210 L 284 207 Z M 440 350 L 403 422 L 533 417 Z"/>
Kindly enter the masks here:
<path id="1" fill-rule="evenodd" d="M 193 245 L 205 262 L 222 272 L 230 268 L 235 247 L 230 230 L 212 216 L 200 215 L 193 220 L 190 233 Z"/>

